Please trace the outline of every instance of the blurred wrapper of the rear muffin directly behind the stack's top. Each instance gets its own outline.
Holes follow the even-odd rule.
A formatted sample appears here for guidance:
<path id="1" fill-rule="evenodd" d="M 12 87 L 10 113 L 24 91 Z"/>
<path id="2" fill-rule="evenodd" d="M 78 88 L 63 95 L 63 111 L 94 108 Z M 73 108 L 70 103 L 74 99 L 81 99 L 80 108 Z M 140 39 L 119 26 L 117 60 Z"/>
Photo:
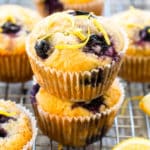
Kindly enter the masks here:
<path id="1" fill-rule="evenodd" d="M 85 4 L 64 4 L 66 10 L 82 10 L 88 12 L 94 12 L 96 15 L 101 15 L 103 12 L 104 2 L 103 0 L 93 0 Z"/>

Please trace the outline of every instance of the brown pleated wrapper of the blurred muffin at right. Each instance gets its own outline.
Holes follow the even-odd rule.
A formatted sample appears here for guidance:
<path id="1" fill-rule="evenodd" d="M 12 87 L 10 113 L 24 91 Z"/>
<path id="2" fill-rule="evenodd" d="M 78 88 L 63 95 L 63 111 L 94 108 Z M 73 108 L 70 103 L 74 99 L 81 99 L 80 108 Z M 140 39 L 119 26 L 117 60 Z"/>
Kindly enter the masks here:
<path id="1" fill-rule="evenodd" d="M 132 82 L 150 82 L 150 57 L 125 56 L 119 76 Z"/>

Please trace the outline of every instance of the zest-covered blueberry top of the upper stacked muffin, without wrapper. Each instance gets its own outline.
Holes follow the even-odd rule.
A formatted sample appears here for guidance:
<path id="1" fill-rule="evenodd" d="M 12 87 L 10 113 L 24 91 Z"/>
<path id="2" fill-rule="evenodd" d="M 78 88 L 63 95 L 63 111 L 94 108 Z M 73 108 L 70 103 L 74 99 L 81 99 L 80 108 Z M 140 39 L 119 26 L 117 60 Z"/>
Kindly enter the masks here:
<path id="1" fill-rule="evenodd" d="M 38 23 L 28 38 L 27 52 L 40 65 L 80 72 L 119 61 L 125 46 L 122 30 L 109 19 L 66 11 Z"/>

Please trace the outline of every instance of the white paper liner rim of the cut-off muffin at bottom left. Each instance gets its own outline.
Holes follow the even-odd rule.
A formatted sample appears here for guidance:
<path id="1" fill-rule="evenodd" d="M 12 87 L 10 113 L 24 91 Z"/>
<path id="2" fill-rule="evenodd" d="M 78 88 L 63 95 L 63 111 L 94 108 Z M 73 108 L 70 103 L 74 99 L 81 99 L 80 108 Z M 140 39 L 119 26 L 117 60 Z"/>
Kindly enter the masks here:
<path id="1" fill-rule="evenodd" d="M 32 113 L 28 109 L 21 106 L 20 104 L 17 104 L 17 107 L 30 118 L 30 122 L 32 126 L 32 138 L 30 141 L 27 142 L 27 144 L 23 147 L 22 150 L 31 150 L 33 148 L 33 145 L 35 144 L 36 136 L 38 133 L 38 129 L 36 127 L 36 120 L 35 120 L 35 117 L 32 115 Z"/>

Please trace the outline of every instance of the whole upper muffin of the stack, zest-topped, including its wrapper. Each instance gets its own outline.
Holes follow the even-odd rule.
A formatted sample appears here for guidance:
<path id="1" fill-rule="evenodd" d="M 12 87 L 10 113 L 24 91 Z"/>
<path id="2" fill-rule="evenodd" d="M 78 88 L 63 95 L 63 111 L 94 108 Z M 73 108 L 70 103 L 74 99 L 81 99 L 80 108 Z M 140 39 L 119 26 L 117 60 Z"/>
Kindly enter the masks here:
<path id="1" fill-rule="evenodd" d="M 72 101 L 102 95 L 114 81 L 127 45 L 123 31 L 112 26 L 108 19 L 79 11 L 43 19 L 27 39 L 37 82 Z"/>

